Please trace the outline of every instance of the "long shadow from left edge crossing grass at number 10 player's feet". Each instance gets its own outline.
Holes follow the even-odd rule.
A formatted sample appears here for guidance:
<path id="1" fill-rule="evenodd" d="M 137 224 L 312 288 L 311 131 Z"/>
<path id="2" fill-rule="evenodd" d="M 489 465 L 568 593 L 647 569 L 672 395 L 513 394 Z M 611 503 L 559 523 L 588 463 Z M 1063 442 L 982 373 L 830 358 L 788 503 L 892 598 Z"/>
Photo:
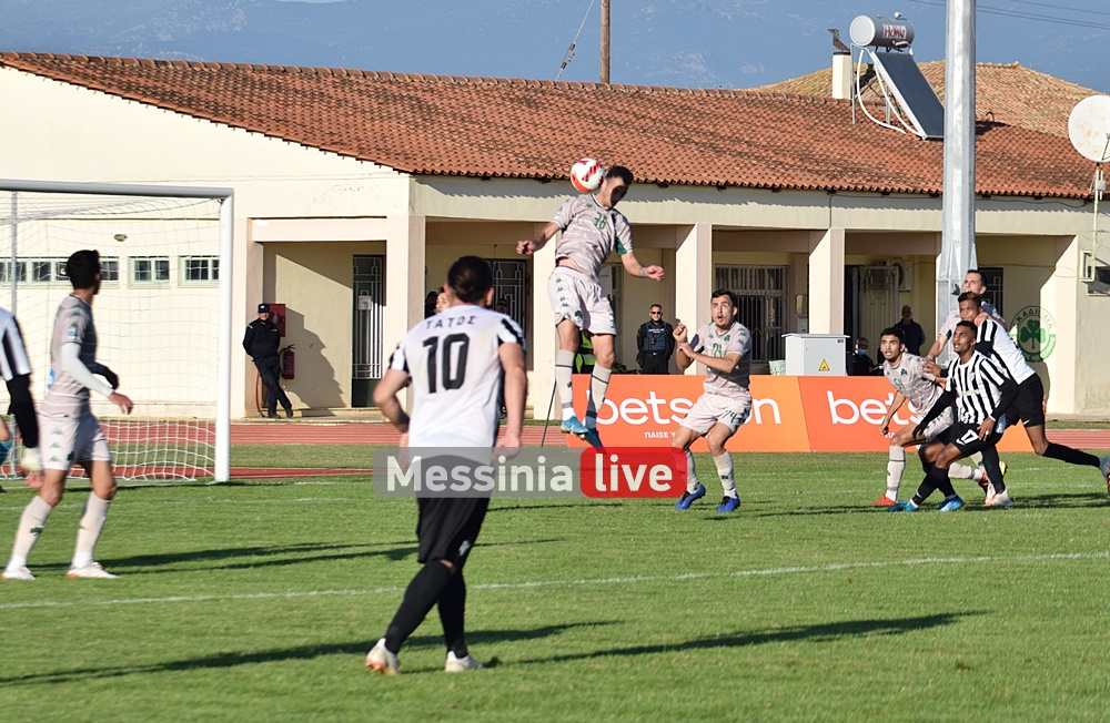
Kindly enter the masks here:
<path id="1" fill-rule="evenodd" d="M 574 628 L 596 628 L 598 625 L 610 625 L 613 622 L 588 622 L 571 623 L 565 625 L 545 625 L 543 628 L 532 628 L 527 630 L 475 630 L 466 633 L 470 643 L 505 643 L 522 640 L 539 640 L 559 635 Z M 442 635 L 418 635 L 412 638 L 406 646 L 443 646 Z M 343 669 L 356 668 L 361 664 L 371 648 L 373 641 L 359 641 L 346 643 L 324 643 L 320 645 L 299 645 L 295 648 L 279 648 L 275 650 L 263 650 L 252 653 L 216 653 L 202 658 L 185 658 L 182 660 L 170 660 L 161 663 L 150 663 L 147 665 L 115 665 L 102 668 L 77 668 L 73 670 L 54 671 L 50 673 L 30 673 L 11 678 L 0 678 L 0 686 L 16 685 L 52 685 L 57 683 L 73 683 L 89 680 L 103 680 L 112 678 L 124 678 L 128 675 L 143 675 L 149 673 L 170 673 L 193 671 L 200 669 L 222 669 L 238 665 L 253 665 L 259 663 L 285 662 L 289 660 L 313 660 L 327 655 L 351 655 L 354 660 L 349 664 L 344 663 Z M 404 651 L 402 651 L 403 656 Z M 424 669 L 423 672 L 441 670 Z M 405 671 L 405 672 L 422 672 Z"/>

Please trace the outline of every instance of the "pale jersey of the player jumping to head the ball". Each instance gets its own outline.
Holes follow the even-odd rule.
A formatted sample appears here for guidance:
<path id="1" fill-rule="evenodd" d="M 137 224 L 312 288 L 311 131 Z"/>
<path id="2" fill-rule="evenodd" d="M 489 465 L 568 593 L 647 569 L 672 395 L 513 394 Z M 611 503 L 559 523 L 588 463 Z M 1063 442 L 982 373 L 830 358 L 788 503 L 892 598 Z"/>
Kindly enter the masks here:
<path id="1" fill-rule="evenodd" d="M 632 251 L 628 220 L 616 208 L 603 207 L 592 193 L 567 198 L 552 221 L 563 230 L 555 245 L 555 263 L 569 258 L 595 284 L 614 248 L 618 256 Z"/>

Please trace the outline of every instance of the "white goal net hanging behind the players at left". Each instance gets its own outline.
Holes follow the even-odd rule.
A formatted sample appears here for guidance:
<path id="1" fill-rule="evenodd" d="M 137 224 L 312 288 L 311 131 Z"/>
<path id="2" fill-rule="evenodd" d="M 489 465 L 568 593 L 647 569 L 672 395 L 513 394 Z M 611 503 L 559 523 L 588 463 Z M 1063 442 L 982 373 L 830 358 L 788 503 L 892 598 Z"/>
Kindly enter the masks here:
<path id="1" fill-rule="evenodd" d="M 0 181 L 0 306 L 22 329 L 37 405 L 51 376 L 54 315 L 72 291 L 65 262 L 82 248 L 100 253 L 97 360 L 134 403 L 123 415 L 90 395 L 118 479 L 226 479 L 229 425 L 218 424 L 228 416 L 221 365 L 230 364 L 220 344 L 231 297 L 230 286 L 221 289 L 230 285 L 225 203 L 221 190 Z M 50 445 L 41 439 L 43 458 Z M 13 449 L 4 478 L 17 473 L 21 452 Z"/>

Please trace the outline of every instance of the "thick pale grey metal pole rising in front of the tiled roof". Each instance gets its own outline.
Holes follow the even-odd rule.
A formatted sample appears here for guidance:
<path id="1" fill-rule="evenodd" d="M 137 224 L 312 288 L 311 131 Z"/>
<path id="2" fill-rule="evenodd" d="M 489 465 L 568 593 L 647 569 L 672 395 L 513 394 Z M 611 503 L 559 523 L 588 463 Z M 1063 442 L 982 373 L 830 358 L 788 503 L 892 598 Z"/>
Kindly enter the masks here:
<path id="1" fill-rule="evenodd" d="M 958 307 L 952 285 L 978 265 L 975 248 L 975 0 L 948 0 L 945 180 L 937 326 Z"/>

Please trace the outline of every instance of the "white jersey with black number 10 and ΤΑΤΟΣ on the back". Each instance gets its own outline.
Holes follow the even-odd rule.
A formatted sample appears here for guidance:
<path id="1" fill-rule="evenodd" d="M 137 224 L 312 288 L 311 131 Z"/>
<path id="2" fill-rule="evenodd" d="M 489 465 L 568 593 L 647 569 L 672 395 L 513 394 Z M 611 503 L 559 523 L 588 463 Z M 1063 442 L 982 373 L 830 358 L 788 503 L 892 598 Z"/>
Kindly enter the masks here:
<path id="1" fill-rule="evenodd" d="M 411 379 L 410 447 L 493 447 L 501 422 L 502 344 L 523 348 L 524 332 L 504 314 L 470 304 L 408 330 L 390 368 Z"/>

